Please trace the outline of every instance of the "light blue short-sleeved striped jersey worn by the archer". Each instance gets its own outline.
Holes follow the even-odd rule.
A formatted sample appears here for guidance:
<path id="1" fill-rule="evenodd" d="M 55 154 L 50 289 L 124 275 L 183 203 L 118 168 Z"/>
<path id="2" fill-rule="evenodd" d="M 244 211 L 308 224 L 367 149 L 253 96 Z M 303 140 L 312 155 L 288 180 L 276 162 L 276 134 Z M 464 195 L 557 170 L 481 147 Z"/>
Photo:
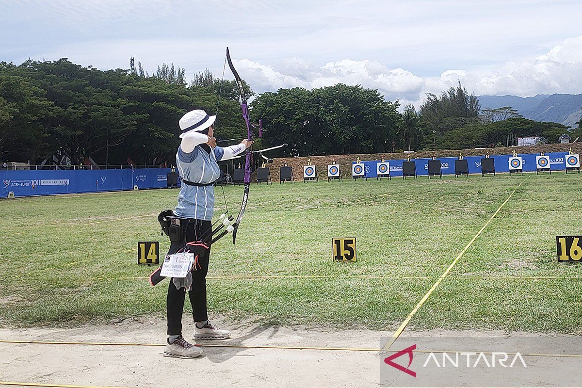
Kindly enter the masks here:
<path id="1" fill-rule="evenodd" d="M 222 159 L 224 150 L 221 147 L 211 148 L 210 154 L 200 145 L 190 153 L 178 147 L 176 165 L 180 177 L 194 183 L 211 183 L 220 177 L 218 161 Z M 210 221 L 214 215 L 214 186 L 191 186 L 182 183 L 178 194 L 178 206 L 174 212 L 181 218 L 194 218 Z"/>

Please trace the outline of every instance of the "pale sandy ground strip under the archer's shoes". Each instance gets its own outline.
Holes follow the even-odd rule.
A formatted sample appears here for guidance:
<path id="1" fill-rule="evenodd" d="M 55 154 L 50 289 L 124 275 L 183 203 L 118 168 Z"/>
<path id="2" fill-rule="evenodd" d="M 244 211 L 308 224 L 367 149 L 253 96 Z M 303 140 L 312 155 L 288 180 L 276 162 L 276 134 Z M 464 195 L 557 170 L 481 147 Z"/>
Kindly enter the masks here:
<path id="1" fill-rule="evenodd" d="M 230 329 L 233 331 L 230 340 L 200 343 L 375 349 L 380 347 L 381 337 L 392 334 L 256 325 L 231 326 Z M 183 332 L 190 337 L 193 324 L 185 324 Z M 164 333 L 165 322 L 161 319 L 132 319 L 80 328 L 4 328 L 0 329 L 0 340 L 163 344 Z M 460 332 L 435 330 L 420 335 L 434 338 L 453 333 L 459 335 Z M 404 340 L 415 334 L 419 335 L 404 334 Z M 463 335 L 469 334 L 508 335 L 463 332 Z M 379 385 L 382 360 L 375 351 L 350 350 L 203 347 L 204 354 L 200 358 L 178 359 L 162 357 L 162 346 L 0 343 L 0 349 L 0 381 L 3 383 L 114 387 L 375 387 Z M 556 364 L 563 361 L 544 359 L 544 362 Z M 582 358 L 572 361 L 582 366 Z"/>

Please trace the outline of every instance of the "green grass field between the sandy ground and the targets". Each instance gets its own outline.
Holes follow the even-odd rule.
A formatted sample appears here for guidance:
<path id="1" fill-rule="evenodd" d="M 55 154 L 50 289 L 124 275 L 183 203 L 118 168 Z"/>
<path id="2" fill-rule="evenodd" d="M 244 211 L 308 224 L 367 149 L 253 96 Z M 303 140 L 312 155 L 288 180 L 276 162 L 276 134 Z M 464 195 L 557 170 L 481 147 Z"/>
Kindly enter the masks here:
<path id="1" fill-rule="evenodd" d="M 582 176 L 563 173 L 252 186 L 237 245 L 214 245 L 209 276 L 281 277 L 209 279 L 210 311 L 232 321 L 396 328 L 513 190 L 408 327 L 580 332 L 582 266 L 556 262 L 555 236 L 582 234 Z M 225 191 L 238 212 L 242 187 Z M 168 247 L 157 214 L 177 194 L 0 201 L 0 322 L 164 314 L 167 280 L 117 278 L 151 272 L 136 264 L 137 241 Z M 356 263 L 332 262 L 331 239 L 342 236 L 357 237 Z"/>

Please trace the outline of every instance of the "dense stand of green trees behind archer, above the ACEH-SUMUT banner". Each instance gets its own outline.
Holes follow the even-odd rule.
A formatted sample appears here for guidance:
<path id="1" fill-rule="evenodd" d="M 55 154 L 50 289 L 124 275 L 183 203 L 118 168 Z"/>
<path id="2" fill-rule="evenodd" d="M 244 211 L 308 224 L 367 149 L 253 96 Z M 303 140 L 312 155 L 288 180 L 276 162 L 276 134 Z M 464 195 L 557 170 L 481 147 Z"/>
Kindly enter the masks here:
<path id="1" fill-rule="evenodd" d="M 246 135 L 234 81 L 185 87 L 183 70 L 160 67 L 148 77 L 141 63 L 131 70 L 101 71 L 63 58 L 0 63 L 0 157 L 40 163 L 67 158 L 79 164 L 173 163 L 178 120 L 191 109 L 218 113 L 217 137 Z M 181 74 L 181 75 L 180 75 Z"/>

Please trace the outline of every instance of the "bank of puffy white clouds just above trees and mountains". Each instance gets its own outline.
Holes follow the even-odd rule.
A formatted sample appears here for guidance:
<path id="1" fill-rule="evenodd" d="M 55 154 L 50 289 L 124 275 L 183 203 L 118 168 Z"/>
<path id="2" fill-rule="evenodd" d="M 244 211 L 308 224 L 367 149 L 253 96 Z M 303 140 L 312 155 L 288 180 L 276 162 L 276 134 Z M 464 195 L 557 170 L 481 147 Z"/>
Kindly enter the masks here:
<path id="1" fill-rule="evenodd" d="M 508 62 L 498 69 L 445 70 L 440 76 L 420 77 L 402 69 L 390 69 L 370 60 L 342 59 L 315 67 L 303 60 L 287 60 L 268 66 L 249 59 L 236 61 L 239 73 L 255 91 L 278 88 L 318 88 L 336 83 L 360 84 L 378 89 L 386 99 L 418 106 L 426 93 L 440 94 L 460 81 L 477 95 L 582 92 L 582 36 L 568 38 L 549 49 L 546 55 L 522 62 Z"/>

